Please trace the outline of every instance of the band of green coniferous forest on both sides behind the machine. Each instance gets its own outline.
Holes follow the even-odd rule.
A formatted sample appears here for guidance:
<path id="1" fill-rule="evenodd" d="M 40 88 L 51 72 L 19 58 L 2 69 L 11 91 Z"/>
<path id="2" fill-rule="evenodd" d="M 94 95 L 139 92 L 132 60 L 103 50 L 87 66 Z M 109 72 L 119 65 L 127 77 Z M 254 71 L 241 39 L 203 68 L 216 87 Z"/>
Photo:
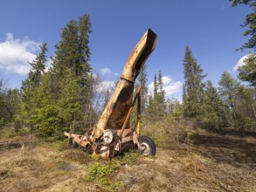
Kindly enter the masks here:
<path id="1" fill-rule="evenodd" d="M 85 127 L 93 127 L 111 90 L 100 95 L 96 91 L 100 80 L 93 78 L 90 65 L 90 28 L 86 14 L 70 20 L 60 34 L 47 70 L 47 43 L 41 45 L 20 89 L 6 89 L 1 79 L 1 127 L 14 127 L 16 132 L 25 128 L 42 138 L 61 137 L 63 131 L 80 133 Z M 252 41 L 241 49 L 255 49 Z M 251 52 L 246 65 L 239 67 L 238 78 L 223 72 L 215 87 L 197 64 L 190 47 L 185 47 L 182 100 L 166 99 L 161 71 L 155 74 L 154 92 L 149 94 L 145 66 L 137 83 L 142 85 L 143 121 L 190 121 L 212 131 L 256 132 L 255 57 Z"/>

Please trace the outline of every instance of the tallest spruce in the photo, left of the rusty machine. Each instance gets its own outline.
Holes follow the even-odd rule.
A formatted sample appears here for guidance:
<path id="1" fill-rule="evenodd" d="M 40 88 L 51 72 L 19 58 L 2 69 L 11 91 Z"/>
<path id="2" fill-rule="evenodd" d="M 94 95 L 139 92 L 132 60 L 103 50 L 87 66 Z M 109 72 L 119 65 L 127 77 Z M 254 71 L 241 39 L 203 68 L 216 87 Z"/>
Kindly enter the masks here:
<path id="1" fill-rule="evenodd" d="M 59 108 L 60 127 L 73 127 L 92 113 L 92 67 L 89 65 L 89 34 L 91 22 L 88 15 L 71 20 L 61 32 L 52 58 L 51 94 Z M 69 80 L 69 82 L 66 81 Z M 68 88 L 70 92 L 68 91 Z"/>

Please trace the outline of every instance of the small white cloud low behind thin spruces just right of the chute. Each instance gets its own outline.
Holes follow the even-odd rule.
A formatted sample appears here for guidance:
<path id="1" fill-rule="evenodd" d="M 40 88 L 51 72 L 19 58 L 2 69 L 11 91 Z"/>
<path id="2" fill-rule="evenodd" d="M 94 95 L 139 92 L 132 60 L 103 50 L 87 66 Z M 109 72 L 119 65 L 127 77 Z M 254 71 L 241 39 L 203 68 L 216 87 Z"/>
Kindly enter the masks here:
<path id="1" fill-rule="evenodd" d="M 172 96 L 174 93 L 177 93 L 182 90 L 183 83 L 181 81 L 172 82 L 170 76 L 163 76 L 163 90 L 165 92 L 166 97 Z M 153 93 L 154 90 L 154 82 L 150 83 L 149 93 Z"/>

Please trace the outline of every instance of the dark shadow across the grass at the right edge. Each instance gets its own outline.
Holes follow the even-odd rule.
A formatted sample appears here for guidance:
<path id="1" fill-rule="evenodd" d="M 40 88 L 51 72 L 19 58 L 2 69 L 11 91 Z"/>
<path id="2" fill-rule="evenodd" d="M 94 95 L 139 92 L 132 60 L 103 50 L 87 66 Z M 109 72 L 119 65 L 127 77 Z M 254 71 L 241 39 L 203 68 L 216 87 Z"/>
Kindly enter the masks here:
<path id="1" fill-rule="evenodd" d="M 232 166 L 256 168 L 256 140 L 221 134 L 193 134 L 197 153 Z"/>

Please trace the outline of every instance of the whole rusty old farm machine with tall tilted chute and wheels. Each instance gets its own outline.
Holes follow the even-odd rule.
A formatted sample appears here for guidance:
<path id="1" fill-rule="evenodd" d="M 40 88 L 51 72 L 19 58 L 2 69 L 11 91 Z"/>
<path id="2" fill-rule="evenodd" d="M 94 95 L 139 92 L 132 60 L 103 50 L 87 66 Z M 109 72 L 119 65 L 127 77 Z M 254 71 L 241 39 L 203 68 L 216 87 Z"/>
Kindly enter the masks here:
<path id="1" fill-rule="evenodd" d="M 83 135 L 64 133 L 73 147 L 80 146 L 87 153 L 103 159 L 132 148 L 138 149 L 142 154 L 156 154 L 155 142 L 148 136 L 140 135 L 141 86 L 134 96 L 135 79 L 155 49 L 156 38 L 156 34 L 149 29 L 135 45 L 98 123 Z M 137 120 L 135 126 L 130 127 L 129 119 L 135 103 Z"/>

